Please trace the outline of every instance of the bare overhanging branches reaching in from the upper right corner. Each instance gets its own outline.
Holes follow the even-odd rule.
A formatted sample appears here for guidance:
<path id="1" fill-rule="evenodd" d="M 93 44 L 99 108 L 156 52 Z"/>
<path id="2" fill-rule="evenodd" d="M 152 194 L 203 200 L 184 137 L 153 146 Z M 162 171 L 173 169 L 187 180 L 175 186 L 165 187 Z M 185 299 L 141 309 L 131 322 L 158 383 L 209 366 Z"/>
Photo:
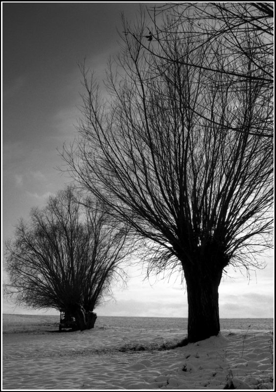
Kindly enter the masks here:
<path id="1" fill-rule="evenodd" d="M 261 2 L 184 2 L 149 7 L 150 25 L 144 26 L 151 32 L 151 43 L 145 35 L 136 34 L 136 30 L 125 22 L 124 30 L 152 55 L 165 59 L 168 64 L 175 62 L 171 50 L 167 50 L 167 41 L 174 38 L 182 42 L 186 39 L 185 30 L 193 34 L 194 49 L 204 48 L 201 52 L 204 61 L 198 56 L 187 55 L 177 58 L 179 63 L 192 68 L 207 70 L 210 73 L 223 73 L 231 77 L 232 86 L 247 79 L 259 86 L 259 96 L 273 96 L 274 89 L 274 7 L 273 3 Z M 163 20 L 163 23 L 161 22 Z M 161 48 L 161 50 L 160 50 Z M 249 61 L 250 70 L 243 65 Z M 261 88 L 260 88 L 261 87 Z M 265 101 L 263 100 L 263 103 Z M 273 138 L 273 106 L 271 100 L 270 117 L 264 137 Z M 258 132 L 256 118 L 252 132 Z"/>

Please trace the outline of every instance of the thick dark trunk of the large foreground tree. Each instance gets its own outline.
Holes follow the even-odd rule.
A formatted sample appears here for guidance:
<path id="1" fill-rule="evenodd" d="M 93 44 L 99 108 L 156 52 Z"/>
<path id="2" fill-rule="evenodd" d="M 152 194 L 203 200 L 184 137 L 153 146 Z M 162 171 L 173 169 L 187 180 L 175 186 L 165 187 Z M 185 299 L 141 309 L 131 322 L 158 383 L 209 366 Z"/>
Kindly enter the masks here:
<path id="1" fill-rule="evenodd" d="M 222 269 L 185 266 L 188 294 L 188 342 L 198 342 L 220 332 L 219 284 Z"/>

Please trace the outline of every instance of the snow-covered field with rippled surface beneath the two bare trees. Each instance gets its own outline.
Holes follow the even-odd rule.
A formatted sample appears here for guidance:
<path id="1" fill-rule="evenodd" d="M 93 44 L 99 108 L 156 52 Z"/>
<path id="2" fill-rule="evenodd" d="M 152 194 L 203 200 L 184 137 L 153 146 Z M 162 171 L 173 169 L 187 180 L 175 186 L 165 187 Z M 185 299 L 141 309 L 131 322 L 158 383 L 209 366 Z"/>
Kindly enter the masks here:
<path id="1" fill-rule="evenodd" d="M 274 389 L 264 321 L 264 329 L 222 322 L 220 336 L 177 348 L 181 319 L 98 317 L 92 330 L 62 333 L 57 322 L 3 315 L 3 390 Z"/>

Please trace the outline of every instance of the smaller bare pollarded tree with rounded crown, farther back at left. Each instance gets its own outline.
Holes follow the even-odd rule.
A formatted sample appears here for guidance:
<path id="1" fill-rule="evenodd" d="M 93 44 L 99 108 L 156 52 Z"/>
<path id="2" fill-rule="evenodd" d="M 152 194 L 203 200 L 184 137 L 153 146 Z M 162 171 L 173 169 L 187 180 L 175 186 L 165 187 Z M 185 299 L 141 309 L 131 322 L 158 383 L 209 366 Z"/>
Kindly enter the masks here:
<path id="1" fill-rule="evenodd" d="M 31 220 L 21 220 L 7 242 L 7 293 L 19 304 L 73 314 L 85 329 L 85 313 L 124 274 L 119 268 L 128 252 L 124 245 L 125 231 L 114 227 L 106 207 L 68 187 L 43 210 L 33 208 Z"/>

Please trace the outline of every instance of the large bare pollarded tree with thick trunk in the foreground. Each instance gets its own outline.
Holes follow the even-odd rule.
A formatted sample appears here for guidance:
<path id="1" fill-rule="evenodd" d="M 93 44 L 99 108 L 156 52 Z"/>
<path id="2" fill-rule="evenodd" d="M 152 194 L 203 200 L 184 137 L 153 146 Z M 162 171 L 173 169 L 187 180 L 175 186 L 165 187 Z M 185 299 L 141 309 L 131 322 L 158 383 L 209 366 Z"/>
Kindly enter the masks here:
<path id="1" fill-rule="evenodd" d="M 226 267 L 261 267 L 256 254 L 270 246 L 273 146 L 263 135 L 271 96 L 261 80 L 206 69 L 211 53 L 217 67 L 227 64 L 223 47 L 199 46 L 188 27 L 179 39 L 178 25 L 170 26 L 154 53 L 142 44 L 143 20 L 135 33 L 125 29 L 108 99 L 82 67 L 79 140 L 63 156 L 79 183 L 148 245 L 149 273 L 181 267 L 188 341 L 196 342 L 220 331 Z M 240 62 L 245 75 L 256 68 L 251 57 Z"/>

